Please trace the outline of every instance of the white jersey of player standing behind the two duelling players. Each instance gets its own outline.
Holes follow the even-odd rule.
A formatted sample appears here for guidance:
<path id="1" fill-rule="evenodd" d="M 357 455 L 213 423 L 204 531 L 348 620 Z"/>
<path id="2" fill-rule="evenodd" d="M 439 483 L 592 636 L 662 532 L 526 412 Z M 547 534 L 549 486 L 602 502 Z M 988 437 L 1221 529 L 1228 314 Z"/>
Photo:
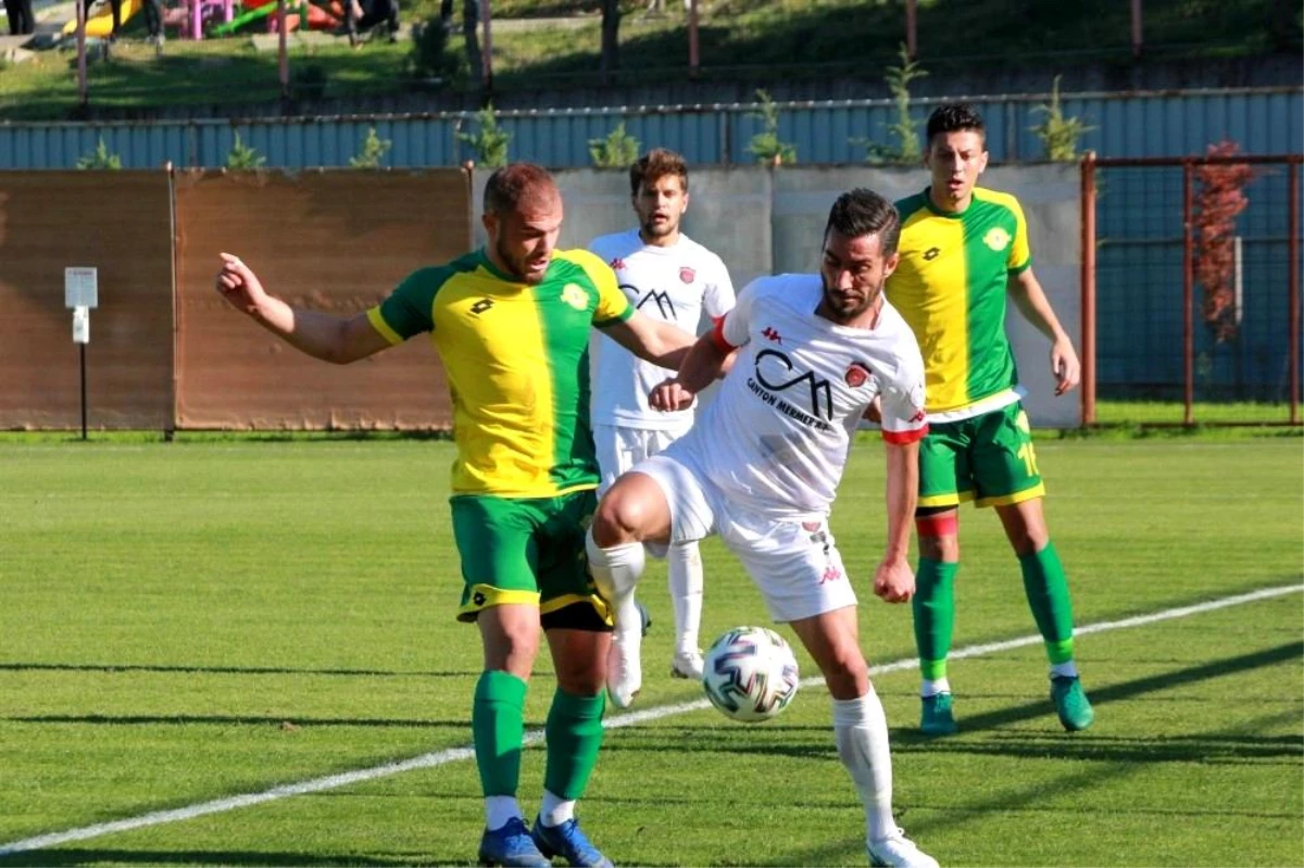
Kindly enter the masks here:
<path id="1" fill-rule="evenodd" d="M 643 244 L 638 229 L 604 235 L 588 248 L 612 266 L 615 280 L 639 311 L 696 335 L 702 314 L 719 319 L 733 308 L 729 270 L 720 257 L 686 235 L 669 248 Z M 709 322 L 707 323 L 711 325 Z M 648 407 L 648 392 L 673 370 L 643 361 L 600 331 L 589 340 L 593 425 L 683 430 L 692 409 L 662 413 Z"/>

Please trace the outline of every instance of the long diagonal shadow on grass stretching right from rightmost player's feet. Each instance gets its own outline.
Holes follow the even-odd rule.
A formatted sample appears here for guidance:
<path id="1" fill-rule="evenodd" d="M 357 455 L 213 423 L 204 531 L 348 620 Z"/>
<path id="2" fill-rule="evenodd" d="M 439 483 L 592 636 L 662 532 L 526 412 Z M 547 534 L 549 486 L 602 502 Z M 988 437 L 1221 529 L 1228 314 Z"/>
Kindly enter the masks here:
<path id="1" fill-rule="evenodd" d="M 1145 696 L 1148 693 L 1155 693 L 1179 687 L 1181 684 L 1191 684 L 1194 682 L 1204 682 L 1211 678 L 1222 678 L 1223 675 L 1235 675 L 1236 673 L 1244 673 L 1253 669 L 1261 669 L 1264 666 L 1275 666 L 1278 663 L 1286 663 L 1288 661 L 1299 659 L 1304 657 L 1304 641 L 1287 643 L 1286 645 L 1278 645 L 1277 648 L 1269 648 L 1260 652 L 1253 652 L 1251 654 L 1240 654 L 1237 657 L 1228 657 L 1226 659 L 1213 661 L 1210 663 L 1201 663 L 1200 666 L 1191 666 L 1188 669 L 1179 669 L 1168 673 L 1162 673 L 1159 675 L 1148 675 L 1146 678 L 1137 678 L 1131 682 L 1120 682 L 1118 684 L 1108 684 L 1106 687 L 1097 687 L 1089 691 L 1091 697 L 1091 704 L 1099 709 L 1110 702 L 1118 702 L 1120 700 L 1131 700 L 1138 696 Z M 1038 699 L 1034 702 L 1026 702 L 1024 705 L 1016 705 L 1013 708 L 996 709 L 994 712 L 986 712 L 982 714 L 974 714 L 971 717 L 960 718 L 960 734 L 965 732 L 982 732 L 985 730 L 994 730 L 1001 726 L 1008 726 L 1011 723 L 1018 723 L 1022 721 L 1030 721 L 1038 717 L 1054 716 L 1054 709 L 1051 706 L 1050 699 Z M 1286 739 L 1291 742 L 1291 739 Z M 951 742 L 948 739 L 930 739 L 919 734 L 917 729 L 901 729 L 893 730 L 892 732 L 892 747 L 893 749 L 901 749 L 908 747 L 928 745 L 930 748 L 945 748 Z M 958 743 L 957 743 L 958 744 Z M 1060 743 L 1056 743 L 1056 751 L 1060 751 Z M 971 744 L 966 747 L 973 747 Z M 1283 749 L 1292 749 L 1292 744 L 1282 744 Z M 1042 751 L 1041 753 L 1045 753 Z M 1107 759 L 1107 757 L 1106 757 Z M 1192 759 L 1191 756 L 1184 759 Z"/>

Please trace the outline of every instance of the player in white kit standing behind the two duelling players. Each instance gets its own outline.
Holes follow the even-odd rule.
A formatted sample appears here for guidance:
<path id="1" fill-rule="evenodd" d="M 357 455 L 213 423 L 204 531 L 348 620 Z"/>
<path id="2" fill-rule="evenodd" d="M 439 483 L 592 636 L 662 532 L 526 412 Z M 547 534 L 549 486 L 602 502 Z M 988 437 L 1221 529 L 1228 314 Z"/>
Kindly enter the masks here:
<path id="1" fill-rule="evenodd" d="M 734 305 L 729 271 L 711 250 L 679 231 L 689 209 L 689 169 L 674 151 L 655 149 L 630 168 L 630 195 L 639 228 L 604 235 L 589 250 L 615 271 L 621 289 L 643 314 L 696 334 L 703 313 L 719 319 Z M 648 392 L 674 371 L 645 362 L 610 338 L 595 331 L 589 343 L 592 364 L 592 424 L 597 463 L 602 473 L 600 493 L 621 473 L 651 457 L 692 426 L 690 401 L 674 412 L 648 407 Z M 674 607 L 674 657 L 670 675 L 702 678 L 702 557 L 696 540 L 672 542 L 665 554 L 670 600 Z M 626 603 L 634 606 L 632 598 Z M 635 607 L 636 610 L 636 607 Z M 617 623 L 614 641 L 626 648 L 621 657 L 636 658 L 642 640 L 642 616 L 629 615 Z M 636 628 L 636 629 L 635 629 Z M 642 666 L 635 666 L 642 670 Z M 626 708 L 640 684 L 627 692 L 612 692 L 612 701 Z"/>

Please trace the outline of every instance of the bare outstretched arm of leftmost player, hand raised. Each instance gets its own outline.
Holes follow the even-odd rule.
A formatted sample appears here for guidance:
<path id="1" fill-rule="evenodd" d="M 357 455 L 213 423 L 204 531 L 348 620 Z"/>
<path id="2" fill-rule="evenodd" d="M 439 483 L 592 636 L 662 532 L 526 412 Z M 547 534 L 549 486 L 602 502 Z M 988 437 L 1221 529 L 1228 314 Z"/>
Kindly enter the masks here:
<path id="1" fill-rule="evenodd" d="M 218 292 L 237 310 L 291 347 L 346 365 L 390 347 L 390 341 L 368 321 L 366 314 L 334 317 L 291 308 L 262 287 L 258 275 L 240 257 L 222 254 L 216 276 Z"/>

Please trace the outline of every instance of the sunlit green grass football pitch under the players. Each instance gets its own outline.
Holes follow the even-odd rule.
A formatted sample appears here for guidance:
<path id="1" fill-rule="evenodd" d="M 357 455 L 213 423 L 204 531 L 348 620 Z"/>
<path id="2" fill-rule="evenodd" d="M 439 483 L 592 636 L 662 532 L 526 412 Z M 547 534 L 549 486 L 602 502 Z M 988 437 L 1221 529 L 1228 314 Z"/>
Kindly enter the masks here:
<path id="1" fill-rule="evenodd" d="M 1304 583 L 1300 438 L 1038 452 L 1078 624 Z M 100 826 L 469 744 L 480 656 L 451 616 L 451 455 L 436 441 L 0 442 L 0 868 L 472 864 L 466 759 Z M 882 463 L 872 441 L 855 447 L 833 514 L 871 663 L 913 656 L 909 610 L 867 589 Z M 995 516 L 965 508 L 961 537 L 957 646 L 1033 633 Z M 704 554 L 704 637 L 767 623 L 733 559 Z M 635 709 L 700 697 L 665 675 L 664 581 L 655 566 L 642 592 L 655 624 Z M 1300 623 L 1290 593 L 1085 635 L 1098 714 L 1073 735 L 1037 645 L 952 665 L 961 732 L 945 740 L 915 732 L 917 674 L 880 675 L 898 820 L 948 867 L 1296 864 Z M 545 657 L 532 729 L 554 686 Z M 529 812 L 541 779 L 528 749 Z M 699 709 L 613 730 L 580 816 L 621 865 L 865 864 L 818 686 L 763 726 Z M 5 854 L 76 829 L 91 832 Z"/>

